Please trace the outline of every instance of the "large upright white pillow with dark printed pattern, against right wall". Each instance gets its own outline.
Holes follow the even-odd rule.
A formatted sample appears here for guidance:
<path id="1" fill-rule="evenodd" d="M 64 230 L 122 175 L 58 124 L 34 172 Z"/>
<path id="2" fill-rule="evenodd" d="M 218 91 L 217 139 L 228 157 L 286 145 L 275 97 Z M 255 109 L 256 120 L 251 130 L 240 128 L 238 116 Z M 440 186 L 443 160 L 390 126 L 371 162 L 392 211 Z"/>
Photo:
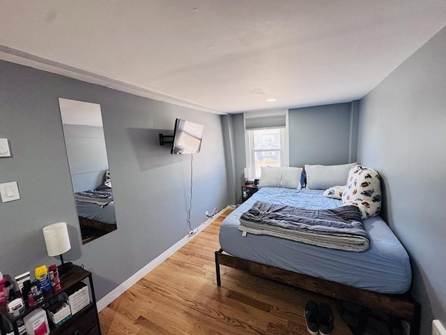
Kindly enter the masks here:
<path id="1" fill-rule="evenodd" d="M 362 218 L 378 215 L 381 209 L 381 186 L 378 172 L 359 164 L 353 166 L 348 172 L 342 202 L 343 206 L 358 207 Z"/>

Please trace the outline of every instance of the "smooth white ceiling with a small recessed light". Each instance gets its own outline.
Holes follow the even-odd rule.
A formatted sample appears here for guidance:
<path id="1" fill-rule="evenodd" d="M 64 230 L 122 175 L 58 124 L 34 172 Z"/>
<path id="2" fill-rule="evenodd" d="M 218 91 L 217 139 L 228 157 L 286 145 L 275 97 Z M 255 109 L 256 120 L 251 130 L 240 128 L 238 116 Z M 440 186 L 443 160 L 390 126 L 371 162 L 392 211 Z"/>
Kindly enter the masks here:
<path id="1" fill-rule="evenodd" d="M 446 0 L 0 0 L 0 59 L 231 113 L 362 98 L 445 24 Z"/>

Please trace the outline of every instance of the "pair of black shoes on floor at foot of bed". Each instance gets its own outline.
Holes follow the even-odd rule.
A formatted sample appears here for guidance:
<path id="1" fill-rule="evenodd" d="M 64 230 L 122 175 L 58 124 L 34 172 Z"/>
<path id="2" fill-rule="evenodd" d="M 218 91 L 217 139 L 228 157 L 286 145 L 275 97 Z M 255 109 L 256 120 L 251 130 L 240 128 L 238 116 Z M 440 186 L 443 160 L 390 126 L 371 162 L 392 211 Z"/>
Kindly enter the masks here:
<path id="1" fill-rule="evenodd" d="M 331 335 L 334 327 L 332 308 L 328 304 L 316 304 L 313 300 L 305 304 L 307 329 L 312 335 Z"/>

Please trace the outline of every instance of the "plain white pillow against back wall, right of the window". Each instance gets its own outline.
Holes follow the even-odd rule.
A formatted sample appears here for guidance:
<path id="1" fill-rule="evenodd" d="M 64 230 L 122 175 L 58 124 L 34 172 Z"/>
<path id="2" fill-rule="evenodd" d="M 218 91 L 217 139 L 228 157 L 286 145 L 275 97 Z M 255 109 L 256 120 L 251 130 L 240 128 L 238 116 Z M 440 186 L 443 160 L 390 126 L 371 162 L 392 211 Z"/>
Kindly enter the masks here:
<path id="1" fill-rule="evenodd" d="M 342 165 L 305 165 L 307 188 L 325 190 L 333 185 L 346 185 L 348 172 L 356 163 Z"/>

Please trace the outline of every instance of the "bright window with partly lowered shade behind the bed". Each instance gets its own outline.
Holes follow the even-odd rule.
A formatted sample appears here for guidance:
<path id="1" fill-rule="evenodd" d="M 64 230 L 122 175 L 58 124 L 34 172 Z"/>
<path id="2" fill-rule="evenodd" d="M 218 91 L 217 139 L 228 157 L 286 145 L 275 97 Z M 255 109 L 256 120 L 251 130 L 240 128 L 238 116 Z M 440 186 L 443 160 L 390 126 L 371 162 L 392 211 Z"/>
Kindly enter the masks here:
<path id="1" fill-rule="evenodd" d="M 262 166 L 289 166 L 288 110 L 244 114 L 246 167 L 259 178 Z"/>

